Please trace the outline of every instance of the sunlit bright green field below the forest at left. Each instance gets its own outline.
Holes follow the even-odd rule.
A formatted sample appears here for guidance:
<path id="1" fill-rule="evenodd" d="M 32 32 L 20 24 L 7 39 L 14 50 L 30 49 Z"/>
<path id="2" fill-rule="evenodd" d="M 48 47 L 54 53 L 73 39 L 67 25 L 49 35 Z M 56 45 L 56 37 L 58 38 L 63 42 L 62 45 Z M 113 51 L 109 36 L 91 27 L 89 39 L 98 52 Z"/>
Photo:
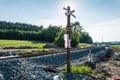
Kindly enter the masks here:
<path id="1" fill-rule="evenodd" d="M 39 41 L 27 41 L 27 40 L 0 40 L 0 47 L 2 48 L 43 48 L 46 43 Z"/>

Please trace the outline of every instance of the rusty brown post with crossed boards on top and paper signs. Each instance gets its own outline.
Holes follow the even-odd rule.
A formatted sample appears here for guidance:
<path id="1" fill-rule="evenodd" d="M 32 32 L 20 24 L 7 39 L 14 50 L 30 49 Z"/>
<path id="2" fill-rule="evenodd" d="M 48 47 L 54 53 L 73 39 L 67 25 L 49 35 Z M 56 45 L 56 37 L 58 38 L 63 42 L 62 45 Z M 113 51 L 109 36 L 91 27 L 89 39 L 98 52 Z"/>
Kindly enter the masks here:
<path id="1" fill-rule="evenodd" d="M 75 17 L 75 15 L 73 15 L 72 13 L 75 12 L 75 10 L 70 10 L 70 6 L 68 6 L 67 8 L 63 8 L 64 10 L 66 10 L 67 12 L 65 13 L 65 15 L 67 16 L 67 35 L 68 35 L 68 39 L 66 40 L 66 44 L 67 44 L 67 72 L 71 72 L 70 70 L 70 33 L 71 33 L 71 26 L 70 26 L 70 15 L 72 15 L 73 17 Z M 75 17 L 76 18 L 76 17 Z"/>

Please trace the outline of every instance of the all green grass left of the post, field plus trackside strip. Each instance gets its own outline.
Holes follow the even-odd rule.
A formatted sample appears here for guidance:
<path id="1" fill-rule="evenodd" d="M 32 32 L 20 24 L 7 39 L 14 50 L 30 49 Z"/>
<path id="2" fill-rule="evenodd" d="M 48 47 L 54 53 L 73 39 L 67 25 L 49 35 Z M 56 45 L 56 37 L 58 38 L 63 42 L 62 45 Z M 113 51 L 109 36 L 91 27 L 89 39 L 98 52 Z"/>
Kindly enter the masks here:
<path id="1" fill-rule="evenodd" d="M 0 47 L 3 49 L 28 49 L 17 52 L 17 54 L 19 55 L 41 54 L 41 53 L 48 54 L 48 53 L 58 53 L 62 51 L 61 49 L 46 49 L 45 45 L 47 44 L 48 43 L 39 42 L 39 41 L 0 39 Z M 31 48 L 35 48 L 35 50 L 30 50 Z"/>

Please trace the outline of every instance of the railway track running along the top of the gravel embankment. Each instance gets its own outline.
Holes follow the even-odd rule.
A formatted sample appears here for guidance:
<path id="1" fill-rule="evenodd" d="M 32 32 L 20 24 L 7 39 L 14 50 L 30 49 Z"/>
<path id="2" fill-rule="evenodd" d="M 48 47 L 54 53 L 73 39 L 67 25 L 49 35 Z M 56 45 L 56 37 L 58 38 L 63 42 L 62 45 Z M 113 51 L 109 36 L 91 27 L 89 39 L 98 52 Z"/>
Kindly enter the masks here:
<path id="1" fill-rule="evenodd" d="M 89 47 L 89 48 L 82 48 L 82 49 L 72 49 L 71 50 L 71 53 L 73 53 L 73 52 L 79 52 L 79 51 L 89 51 L 89 50 L 92 50 L 93 51 L 93 53 L 96 53 L 97 52 L 97 50 L 96 49 L 99 49 L 99 48 L 104 48 L 104 47 Z M 14 54 L 14 55 L 8 55 L 8 56 L 4 56 L 4 53 L 6 53 L 6 52 L 8 52 L 8 53 L 12 53 L 12 52 L 19 52 L 19 51 L 27 51 L 27 50 L 37 50 L 37 49 L 1 49 L 0 50 L 0 55 L 1 55 L 1 53 L 3 53 L 2 54 L 2 56 L 0 56 L 0 60 L 1 59 L 13 59 L 13 58 L 29 58 L 29 57 L 36 57 L 36 56 L 43 56 L 43 55 L 49 55 L 49 54 L 56 54 L 56 53 L 54 53 L 54 52 L 48 52 L 48 53 L 38 53 L 38 54 L 27 54 L 27 55 L 16 55 L 16 54 Z M 66 53 L 66 52 L 59 52 L 59 54 L 60 53 Z"/>

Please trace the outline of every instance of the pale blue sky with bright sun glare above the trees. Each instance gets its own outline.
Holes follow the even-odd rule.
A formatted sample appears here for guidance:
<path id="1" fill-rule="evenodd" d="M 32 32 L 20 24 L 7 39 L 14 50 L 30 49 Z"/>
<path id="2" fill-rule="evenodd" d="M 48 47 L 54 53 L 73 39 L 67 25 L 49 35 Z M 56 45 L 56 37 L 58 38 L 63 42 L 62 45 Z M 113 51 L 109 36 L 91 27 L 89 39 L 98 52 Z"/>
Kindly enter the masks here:
<path id="1" fill-rule="evenodd" d="M 67 6 L 94 42 L 120 41 L 120 0 L 0 0 L 0 21 L 65 26 Z"/>

